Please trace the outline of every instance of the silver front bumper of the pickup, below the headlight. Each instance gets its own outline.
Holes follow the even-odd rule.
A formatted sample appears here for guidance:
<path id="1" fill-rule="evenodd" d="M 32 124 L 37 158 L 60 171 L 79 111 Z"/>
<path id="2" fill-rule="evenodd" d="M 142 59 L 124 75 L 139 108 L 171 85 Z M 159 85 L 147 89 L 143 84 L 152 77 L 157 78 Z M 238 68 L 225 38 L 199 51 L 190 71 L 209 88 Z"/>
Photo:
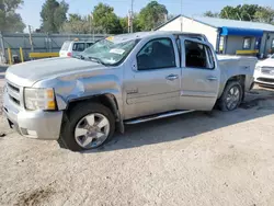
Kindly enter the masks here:
<path id="1" fill-rule="evenodd" d="M 20 135 L 45 140 L 57 140 L 60 135 L 62 112 L 25 111 L 15 105 L 7 92 L 3 95 L 3 112 L 10 125 Z"/>

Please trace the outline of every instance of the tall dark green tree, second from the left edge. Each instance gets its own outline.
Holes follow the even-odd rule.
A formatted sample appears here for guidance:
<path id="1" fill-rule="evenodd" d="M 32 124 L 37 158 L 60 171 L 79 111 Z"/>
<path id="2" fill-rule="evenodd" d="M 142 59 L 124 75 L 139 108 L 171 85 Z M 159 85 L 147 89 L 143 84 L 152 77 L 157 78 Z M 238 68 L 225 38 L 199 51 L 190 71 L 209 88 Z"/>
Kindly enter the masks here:
<path id="1" fill-rule="evenodd" d="M 42 30 L 44 32 L 57 33 L 65 21 L 69 5 L 62 0 L 60 3 L 56 0 L 46 0 L 42 7 Z"/>

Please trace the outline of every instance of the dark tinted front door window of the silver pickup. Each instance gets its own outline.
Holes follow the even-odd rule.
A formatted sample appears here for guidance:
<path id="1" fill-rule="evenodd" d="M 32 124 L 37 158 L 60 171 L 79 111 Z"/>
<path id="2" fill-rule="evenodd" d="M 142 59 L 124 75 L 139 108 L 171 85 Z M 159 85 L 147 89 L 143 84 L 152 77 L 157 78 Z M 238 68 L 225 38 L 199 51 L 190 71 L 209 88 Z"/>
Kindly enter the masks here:
<path id="1" fill-rule="evenodd" d="M 170 38 L 158 38 L 147 43 L 137 55 L 138 70 L 176 67 L 175 54 Z"/>

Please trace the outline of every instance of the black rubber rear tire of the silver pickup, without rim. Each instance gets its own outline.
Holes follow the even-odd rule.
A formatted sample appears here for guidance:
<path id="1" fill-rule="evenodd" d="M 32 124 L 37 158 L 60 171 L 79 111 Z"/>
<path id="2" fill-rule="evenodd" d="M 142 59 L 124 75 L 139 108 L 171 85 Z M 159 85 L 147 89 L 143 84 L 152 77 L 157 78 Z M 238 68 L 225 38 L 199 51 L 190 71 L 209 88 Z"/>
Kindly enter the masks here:
<path id="1" fill-rule="evenodd" d="M 240 98 L 239 98 L 239 102 L 237 103 L 237 105 L 232 108 L 229 108 L 228 105 L 227 105 L 227 98 L 228 98 L 228 94 L 229 94 L 229 91 L 233 88 L 233 87 L 237 87 L 239 89 L 239 92 L 240 92 Z M 240 84 L 240 82 L 238 81 L 230 81 L 227 83 L 219 101 L 218 101 L 218 106 L 221 111 L 224 112 L 228 112 L 228 111 L 233 111 L 236 108 L 238 108 L 238 106 L 241 104 L 242 102 L 242 99 L 243 99 L 243 89 L 242 89 L 242 85 Z"/>

